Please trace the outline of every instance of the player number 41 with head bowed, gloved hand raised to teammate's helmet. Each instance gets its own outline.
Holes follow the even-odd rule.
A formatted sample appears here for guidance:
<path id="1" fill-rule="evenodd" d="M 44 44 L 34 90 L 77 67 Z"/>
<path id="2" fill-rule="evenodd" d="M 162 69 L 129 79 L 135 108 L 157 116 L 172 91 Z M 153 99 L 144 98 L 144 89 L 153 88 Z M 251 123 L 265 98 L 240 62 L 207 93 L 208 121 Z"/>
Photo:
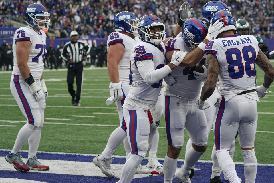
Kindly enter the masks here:
<path id="1" fill-rule="evenodd" d="M 215 24 L 209 29 L 204 22 L 191 18 L 184 22 L 182 33 L 166 43 L 166 58 L 170 61 L 170 54 L 174 50 L 186 51 L 181 67 L 176 67 L 171 76 L 178 78 L 176 84 L 165 87 L 165 119 L 166 133 L 168 138 L 168 152 L 164 160 L 164 182 L 172 182 L 177 167 L 177 158 L 184 143 L 184 128 L 192 139 L 192 147 L 186 152 L 185 162 L 175 177 L 181 182 L 190 182 L 189 174 L 192 167 L 199 160 L 207 147 L 207 121 L 204 112 L 196 110 L 201 81 L 194 77 L 194 68 L 206 63 L 204 54 L 205 43 L 214 32 L 222 27 Z M 212 34 L 213 33 L 213 34 Z M 203 42 L 202 42 L 203 41 Z M 199 48 L 196 48 L 198 47 Z M 201 48 L 200 48 L 201 47 Z M 192 51 L 193 50 L 193 51 Z M 203 58 L 204 57 L 204 58 Z M 191 92 L 190 92 L 191 91 Z M 195 107 L 195 108 L 194 108 Z"/>

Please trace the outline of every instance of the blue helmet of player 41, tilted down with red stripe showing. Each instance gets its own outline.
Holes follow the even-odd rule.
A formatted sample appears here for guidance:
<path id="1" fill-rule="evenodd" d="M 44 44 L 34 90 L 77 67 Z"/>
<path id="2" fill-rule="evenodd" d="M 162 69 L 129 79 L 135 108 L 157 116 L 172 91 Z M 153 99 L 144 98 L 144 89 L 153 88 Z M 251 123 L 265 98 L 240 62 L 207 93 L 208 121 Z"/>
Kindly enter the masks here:
<path id="1" fill-rule="evenodd" d="M 184 22 L 182 36 L 190 50 L 195 49 L 207 35 L 206 23 L 196 19 L 190 18 Z"/>

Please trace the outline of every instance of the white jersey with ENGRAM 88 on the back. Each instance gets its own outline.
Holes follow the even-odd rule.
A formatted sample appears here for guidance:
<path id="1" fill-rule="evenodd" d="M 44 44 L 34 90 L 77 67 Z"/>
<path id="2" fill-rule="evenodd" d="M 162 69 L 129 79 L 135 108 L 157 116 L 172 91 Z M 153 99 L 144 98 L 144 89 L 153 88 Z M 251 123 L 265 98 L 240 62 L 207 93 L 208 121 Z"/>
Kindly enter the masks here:
<path id="1" fill-rule="evenodd" d="M 245 90 L 255 89 L 258 52 L 258 41 L 253 35 L 228 35 L 208 41 L 206 55 L 212 54 L 218 60 L 220 93 L 225 101 Z M 244 96 L 258 100 L 256 92 Z"/>

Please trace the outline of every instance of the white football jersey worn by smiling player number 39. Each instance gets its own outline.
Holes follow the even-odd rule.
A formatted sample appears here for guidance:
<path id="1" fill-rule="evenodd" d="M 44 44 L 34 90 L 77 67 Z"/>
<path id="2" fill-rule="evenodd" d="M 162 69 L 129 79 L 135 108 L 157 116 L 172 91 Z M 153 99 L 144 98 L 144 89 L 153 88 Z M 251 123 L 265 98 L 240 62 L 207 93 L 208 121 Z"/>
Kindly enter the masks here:
<path id="1" fill-rule="evenodd" d="M 155 70 L 164 67 L 166 52 L 164 43 L 160 43 L 159 46 L 160 49 L 143 41 L 134 45 L 130 57 L 130 90 L 123 108 L 142 110 L 149 109 L 148 106 L 156 104 L 161 90 L 162 79 L 157 83 L 148 85 L 140 75 L 136 62 L 152 60 Z"/>

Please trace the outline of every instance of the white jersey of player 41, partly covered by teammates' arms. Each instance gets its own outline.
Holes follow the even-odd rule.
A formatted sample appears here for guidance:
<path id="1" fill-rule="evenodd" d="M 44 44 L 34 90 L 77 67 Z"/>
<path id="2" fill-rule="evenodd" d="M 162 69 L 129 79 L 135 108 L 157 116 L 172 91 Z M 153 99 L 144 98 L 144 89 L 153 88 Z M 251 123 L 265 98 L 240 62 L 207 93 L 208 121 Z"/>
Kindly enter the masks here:
<path id="1" fill-rule="evenodd" d="M 186 45 L 182 33 L 177 37 L 171 38 L 166 43 L 166 51 L 181 50 L 189 53 L 191 50 Z M 206 64 L 206 55 L 196 65 Z M 183 100 L 196 100 L 200 96 L 201 81 L 195 79 L 193 71 L 195 67 L 175 67 L 170 73 L 177 77 L 178 81 L 172 86 L 165 86 L 164 95 L 176 96 Z"/>

